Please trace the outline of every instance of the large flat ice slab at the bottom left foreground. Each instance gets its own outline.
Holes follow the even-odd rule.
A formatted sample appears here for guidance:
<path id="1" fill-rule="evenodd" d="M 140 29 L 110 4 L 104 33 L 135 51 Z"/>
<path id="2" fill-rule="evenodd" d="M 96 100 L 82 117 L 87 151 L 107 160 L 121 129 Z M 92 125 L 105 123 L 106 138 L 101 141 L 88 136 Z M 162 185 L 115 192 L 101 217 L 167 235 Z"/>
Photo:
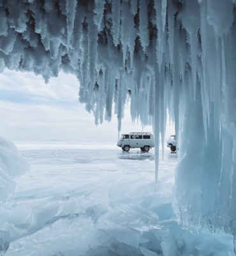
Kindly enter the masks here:
<path id="1" fill-rule="evenodd" d="M 61 236 L 63 234 L 63 236 Z M 42 239 L 48 237 L 47 241 L 41 243 Z M 18 239 L 10 244 L 5 255 L 75 255 L 80 253 L 85 255 L 89 250 L 96 250 L 107 234 L 102 230 L 93 227 L 91 218 L 77 216 L 76 218 L 61 218 L 52 225 L 34 232 L 27 237 L 27 243 Z M 76 243 L 74 243 L 77 241 Z M 24 246 L 23 246 L 24 244 Z"/>

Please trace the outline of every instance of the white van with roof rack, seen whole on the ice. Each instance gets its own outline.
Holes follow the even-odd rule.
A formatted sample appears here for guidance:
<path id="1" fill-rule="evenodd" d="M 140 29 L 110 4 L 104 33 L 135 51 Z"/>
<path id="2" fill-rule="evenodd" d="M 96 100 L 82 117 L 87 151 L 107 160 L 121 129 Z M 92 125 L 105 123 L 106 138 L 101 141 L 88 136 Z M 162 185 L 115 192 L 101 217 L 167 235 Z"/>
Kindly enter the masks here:
<path id="1" fill-rule="evenodd" d="M 149 151 L 154 147 L 154 136 L 152 132 L 130 132 L 121 134 L 117 143 L 124 151 L 129 151 L 129 148 L 140 148 L 142 151 Z"/>

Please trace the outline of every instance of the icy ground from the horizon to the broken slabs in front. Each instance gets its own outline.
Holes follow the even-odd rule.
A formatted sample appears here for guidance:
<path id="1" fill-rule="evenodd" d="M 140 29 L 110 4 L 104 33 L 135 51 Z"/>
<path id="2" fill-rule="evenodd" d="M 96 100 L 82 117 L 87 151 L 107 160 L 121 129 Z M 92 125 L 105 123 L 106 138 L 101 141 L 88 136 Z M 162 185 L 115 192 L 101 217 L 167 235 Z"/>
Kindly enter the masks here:
<path id="1" fill-rule="evenodd" d="M 14 198 L 0 207 L 0 255 L 233 255 L 231 236 L 190 233 L 175 222 L 177 157 L 168 148 L 156 191 L 154 149 L 17 147 L 31 172 L 15 179 Z"/>

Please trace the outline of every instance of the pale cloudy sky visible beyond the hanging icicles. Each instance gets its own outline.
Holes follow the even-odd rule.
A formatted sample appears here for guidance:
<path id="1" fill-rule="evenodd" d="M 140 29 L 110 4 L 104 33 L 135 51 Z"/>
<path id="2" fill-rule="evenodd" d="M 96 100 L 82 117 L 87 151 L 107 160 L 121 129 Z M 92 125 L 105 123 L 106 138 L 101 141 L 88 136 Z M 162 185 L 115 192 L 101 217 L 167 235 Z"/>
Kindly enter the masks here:
<path id="1" fill-rule="evenodd" d="M 93 114 L 78 102 L 79 86 L 75 76 L 63 72 L 45 84 L 31 72 L 4 70 L 0 74 L 0 136 L 14 142 L 116 143 L 117 116 L 96 126 Z M 142 131 L 142 125 L 132 124 L 126 104 L 121 133 L 132 131 Z M 167 124 L 166 138 L 174 133 Z"/>

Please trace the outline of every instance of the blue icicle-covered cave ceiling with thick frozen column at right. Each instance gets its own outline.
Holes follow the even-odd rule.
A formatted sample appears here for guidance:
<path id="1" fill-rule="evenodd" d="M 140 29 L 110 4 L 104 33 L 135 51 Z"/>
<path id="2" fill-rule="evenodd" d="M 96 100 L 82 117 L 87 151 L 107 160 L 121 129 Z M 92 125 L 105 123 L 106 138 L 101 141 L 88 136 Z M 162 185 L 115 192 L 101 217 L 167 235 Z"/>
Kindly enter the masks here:
<path id="1" fill-rule="evenodd" d="M 154 125 L 156 166 L 168 109 L 178 221 L 236 238 L 234 0 L 1 0 L 0 13 L 1 71 L 75 74 L 96 124 L 114 103 L 119 130 L 130 95 L 133 120 Z"/>

